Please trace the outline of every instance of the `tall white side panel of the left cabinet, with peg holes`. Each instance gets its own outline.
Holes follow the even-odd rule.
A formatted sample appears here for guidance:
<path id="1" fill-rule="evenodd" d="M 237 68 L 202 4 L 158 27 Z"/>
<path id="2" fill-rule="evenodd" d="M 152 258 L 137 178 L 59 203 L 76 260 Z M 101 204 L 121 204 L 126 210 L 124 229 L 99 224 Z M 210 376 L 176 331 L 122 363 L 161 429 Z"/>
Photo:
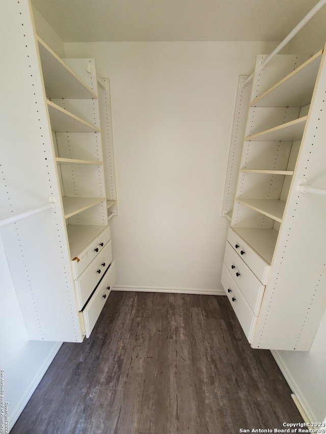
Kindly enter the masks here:
<path id="1" fill-rule="evenodd" d="M 65 221 L 29 2 L 2 8 L 0 217 L 45 205 L 55 211 L 3 227 L 8 264 L 30 339 L 80 341 Z M 10 67 L 19 65 L 17 67 Z"/>

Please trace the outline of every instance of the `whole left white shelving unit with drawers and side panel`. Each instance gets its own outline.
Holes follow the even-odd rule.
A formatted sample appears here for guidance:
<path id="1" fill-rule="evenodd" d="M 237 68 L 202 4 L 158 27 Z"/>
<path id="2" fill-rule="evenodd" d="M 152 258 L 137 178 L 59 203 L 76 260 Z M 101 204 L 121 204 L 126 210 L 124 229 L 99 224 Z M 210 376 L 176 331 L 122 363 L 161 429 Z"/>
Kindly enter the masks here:
<path id="1" fill-rule="evenodd" d="M 110 83 L 97 87 L 94 59 L 60 59 L 36 35 L 29 2 L 3 13 L 4 62 L 19 67 L 4 71 L 0 217 L 49 197 L 56 206 L 13 217 L 1 236 L 30 339 L 80 342 L 115 280 Z"/>

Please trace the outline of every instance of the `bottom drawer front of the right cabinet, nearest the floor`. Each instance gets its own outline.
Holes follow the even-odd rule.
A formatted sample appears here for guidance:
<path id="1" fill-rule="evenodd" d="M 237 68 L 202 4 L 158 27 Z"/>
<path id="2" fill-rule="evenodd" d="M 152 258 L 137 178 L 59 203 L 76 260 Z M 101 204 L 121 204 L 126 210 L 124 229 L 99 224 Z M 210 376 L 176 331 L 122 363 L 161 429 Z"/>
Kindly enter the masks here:
<path id="1" fill-rule="evenodd" d="M 225 264 L 223 265 L 221 281 L 242 330 L 248 341 L 251 342 L 257 323 L 257 316 L 254 315 L 248 303 L 244 300 Z"/>

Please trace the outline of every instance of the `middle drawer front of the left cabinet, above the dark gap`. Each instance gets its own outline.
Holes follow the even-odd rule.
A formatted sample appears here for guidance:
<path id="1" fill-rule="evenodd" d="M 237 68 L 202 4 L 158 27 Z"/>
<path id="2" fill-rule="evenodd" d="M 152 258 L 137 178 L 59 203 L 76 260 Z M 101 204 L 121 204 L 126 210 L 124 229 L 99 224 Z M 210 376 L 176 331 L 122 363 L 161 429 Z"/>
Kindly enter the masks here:
<path id="1" fill-rule="evenodd" d="M 112 262 L 111 241 L 109 241 L 96 256 L 94 261 L 87 267 L 84 273 L 75 280 L 78 309 L 83 306 L 94 291 L 100 278 Z M 105 265 L 104 265 L 105 264 Z"/>

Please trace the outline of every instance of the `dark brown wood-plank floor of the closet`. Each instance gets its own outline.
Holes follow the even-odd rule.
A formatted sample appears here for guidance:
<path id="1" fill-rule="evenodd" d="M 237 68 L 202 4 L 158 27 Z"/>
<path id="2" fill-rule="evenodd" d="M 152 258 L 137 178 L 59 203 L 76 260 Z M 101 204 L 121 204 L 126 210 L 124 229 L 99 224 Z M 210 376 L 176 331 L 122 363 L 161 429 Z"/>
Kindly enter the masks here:
<path id="1" fill-rule="evenodd" d="M 274 431 L 303 422 L 290 394 L 227 297 L 112 292 L 91 337 L 62 345 L 11 434 Z"/>

